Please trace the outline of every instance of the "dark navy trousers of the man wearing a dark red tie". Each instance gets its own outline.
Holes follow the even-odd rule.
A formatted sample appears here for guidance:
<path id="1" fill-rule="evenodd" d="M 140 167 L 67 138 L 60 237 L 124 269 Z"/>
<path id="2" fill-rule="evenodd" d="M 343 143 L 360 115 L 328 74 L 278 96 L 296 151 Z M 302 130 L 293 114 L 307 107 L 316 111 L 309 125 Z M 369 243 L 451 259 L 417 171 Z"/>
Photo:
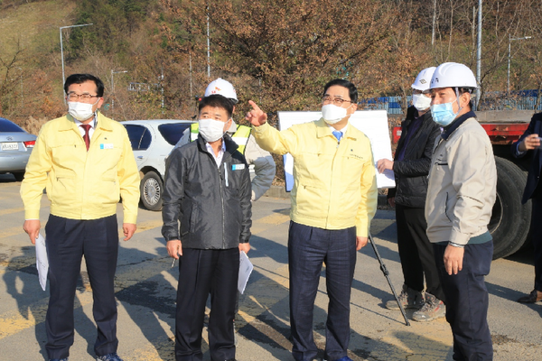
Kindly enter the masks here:
<path id="1" fill-rule="evenodd" d="M 81 258 L 85 256 L 94 305 L 92 314 L 98 326 L 94 345 L 97 356 L 117 352 L 117 216 L 92 220 L 51 215 L 47 226 L 47 256 L 51 297 L 45 320 L 49 358 L 64 358 L 73 344 L 73 301 Z"/>

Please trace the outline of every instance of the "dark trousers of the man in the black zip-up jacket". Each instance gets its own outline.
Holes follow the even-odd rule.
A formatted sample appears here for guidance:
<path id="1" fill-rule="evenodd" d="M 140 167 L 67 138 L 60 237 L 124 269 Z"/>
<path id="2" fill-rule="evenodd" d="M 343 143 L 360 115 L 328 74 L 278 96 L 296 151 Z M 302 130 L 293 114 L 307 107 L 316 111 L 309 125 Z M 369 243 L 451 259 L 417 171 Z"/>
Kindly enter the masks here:
<path id="1" fill-rule="evenodd" d="M 175 318 L 175 360 L 201 360 L 201 331 L 210 294 L 209 349 L 212 361 L 235 358 L 233 319 L 239 249 L 183 248 Z"/>

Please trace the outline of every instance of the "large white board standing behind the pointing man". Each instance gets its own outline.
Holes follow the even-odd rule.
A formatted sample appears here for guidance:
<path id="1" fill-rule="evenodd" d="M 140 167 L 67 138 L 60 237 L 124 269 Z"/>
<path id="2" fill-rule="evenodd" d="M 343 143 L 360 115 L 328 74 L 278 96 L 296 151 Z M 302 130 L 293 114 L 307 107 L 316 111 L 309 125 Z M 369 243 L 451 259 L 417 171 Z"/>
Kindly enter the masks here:
<path id="1" fill-rule="evenodd" d="M 292 125 L 313 122 L 321 117 L 322 112 L 278 112 L 278 126 L 282 131 Z M 369 138 L 375 161 L 378 188 L 395 188 L 393 171 L 384 171 L 380 174 L 376 170 L 379 159 L 387 158 L 393 161 L 386 110 L 359 110 L 350 116 L 349 123 L 360 129 Z M 283 161 L 285 163 L 286 191 L 290 191 L 294 188 L 294 158 L 288 153 L 283 155 Z"/>

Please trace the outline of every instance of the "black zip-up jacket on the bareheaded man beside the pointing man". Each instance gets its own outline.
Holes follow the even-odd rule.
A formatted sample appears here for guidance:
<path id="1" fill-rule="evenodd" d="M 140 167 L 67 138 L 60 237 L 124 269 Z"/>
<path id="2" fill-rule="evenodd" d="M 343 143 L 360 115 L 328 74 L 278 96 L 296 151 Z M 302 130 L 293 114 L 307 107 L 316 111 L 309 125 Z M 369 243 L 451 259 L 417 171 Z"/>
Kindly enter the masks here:
<path id="1" fill-rule="evenodd" d="M 166 241 L 180 239 L 183 248 L 197 249 L 248 243 L 252 225 L 248 165 L 229 135 L 224 135 L 224 141 L 220 168 L 203 137 L 174 149 L 168 157 L 162 209 Z"/>

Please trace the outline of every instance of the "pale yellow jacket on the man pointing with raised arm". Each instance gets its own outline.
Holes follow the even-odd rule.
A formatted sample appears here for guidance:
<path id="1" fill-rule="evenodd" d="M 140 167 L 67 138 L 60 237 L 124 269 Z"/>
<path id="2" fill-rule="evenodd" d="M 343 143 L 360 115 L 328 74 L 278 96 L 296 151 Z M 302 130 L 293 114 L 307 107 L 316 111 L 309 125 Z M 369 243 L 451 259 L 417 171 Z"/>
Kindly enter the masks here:
<path id="1" fill-rule="evenodd" d="M 253 134 L 260 147 L 294 157 L 290 217 L 323 229 L 356 227 L 368 236 L 377 211 L 377 179 L 369 138 L 353 125 L 337 143 L 323 119 L 279 132 L 265 123 Z"/>

